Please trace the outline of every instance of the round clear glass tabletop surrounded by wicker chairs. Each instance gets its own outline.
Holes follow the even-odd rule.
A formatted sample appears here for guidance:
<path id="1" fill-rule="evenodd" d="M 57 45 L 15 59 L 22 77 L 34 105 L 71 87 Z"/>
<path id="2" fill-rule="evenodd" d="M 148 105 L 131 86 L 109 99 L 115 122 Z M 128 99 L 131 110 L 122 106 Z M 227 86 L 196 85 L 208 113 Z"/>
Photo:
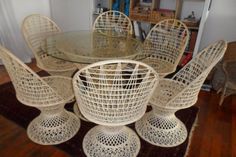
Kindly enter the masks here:
<path id="1" fill-rule="evenodd" d="M 134 59 L 142 53 L 142 45 L 132 37 L 110 37 L 92 31 L 60 33 L 46 39 L 49 55 L 78 63 Z"/>

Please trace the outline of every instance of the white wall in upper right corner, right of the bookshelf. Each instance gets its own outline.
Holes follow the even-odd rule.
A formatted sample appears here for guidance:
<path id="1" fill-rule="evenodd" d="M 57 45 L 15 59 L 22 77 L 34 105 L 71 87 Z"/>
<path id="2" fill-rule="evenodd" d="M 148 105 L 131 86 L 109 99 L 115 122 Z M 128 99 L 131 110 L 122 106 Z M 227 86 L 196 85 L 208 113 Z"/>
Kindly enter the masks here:
<path id="1" fill-rule="evenodd" d="M 200 49 L 220 39 L 236 40 L 236 0 L 212 0 Z"/>

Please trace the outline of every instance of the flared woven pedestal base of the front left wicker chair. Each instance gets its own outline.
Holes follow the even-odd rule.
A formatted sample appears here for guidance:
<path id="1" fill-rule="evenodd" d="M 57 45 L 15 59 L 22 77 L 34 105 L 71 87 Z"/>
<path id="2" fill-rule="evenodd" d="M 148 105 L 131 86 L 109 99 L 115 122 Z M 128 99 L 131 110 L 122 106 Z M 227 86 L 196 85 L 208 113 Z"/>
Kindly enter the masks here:
<path id="1" fill-rule="evenodd" d="M 60 144 L 78 132 L 80 120 L 73 113 L 64 108 L 41 111 L 27 128 L 28 137 L 33 142 L 41 145 Z"/>

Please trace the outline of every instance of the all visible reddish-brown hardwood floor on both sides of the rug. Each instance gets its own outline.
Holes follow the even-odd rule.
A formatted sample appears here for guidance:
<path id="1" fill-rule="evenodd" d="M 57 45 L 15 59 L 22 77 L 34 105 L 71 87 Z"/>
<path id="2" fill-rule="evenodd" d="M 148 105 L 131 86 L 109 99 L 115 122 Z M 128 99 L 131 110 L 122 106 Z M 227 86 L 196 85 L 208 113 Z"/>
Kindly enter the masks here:
<path id="1" fill-rule="evenodd" d="M 35 62 L 30 64 L 39 70 Z M 0 84 L 9 81 L 0 67 Z M 188 157 L 236 157 L 236 97 L 226 98 L 218 107 L 219 95 L 215 92 L 199 94 L 198 123 L 191 138 Z M 14 122 L 0 116 L 1 157 L 66 157 L 65 152 L 54 146 L 41 146 L 31 142 L 26 131 Z"/>

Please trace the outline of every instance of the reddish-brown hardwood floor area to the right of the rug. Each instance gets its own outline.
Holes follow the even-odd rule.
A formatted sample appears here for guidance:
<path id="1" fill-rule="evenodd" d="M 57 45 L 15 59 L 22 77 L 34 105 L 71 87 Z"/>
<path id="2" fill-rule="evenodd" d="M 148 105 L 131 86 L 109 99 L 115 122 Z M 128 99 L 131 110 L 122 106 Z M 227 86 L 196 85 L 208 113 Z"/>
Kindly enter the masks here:
<path id="1" fill-rule="evenodd" d="M 218 102 L 215 92 L 200 92 L 188 157 L 236 157 L 236 97 L 226 98 L 221 108 Z"/>

